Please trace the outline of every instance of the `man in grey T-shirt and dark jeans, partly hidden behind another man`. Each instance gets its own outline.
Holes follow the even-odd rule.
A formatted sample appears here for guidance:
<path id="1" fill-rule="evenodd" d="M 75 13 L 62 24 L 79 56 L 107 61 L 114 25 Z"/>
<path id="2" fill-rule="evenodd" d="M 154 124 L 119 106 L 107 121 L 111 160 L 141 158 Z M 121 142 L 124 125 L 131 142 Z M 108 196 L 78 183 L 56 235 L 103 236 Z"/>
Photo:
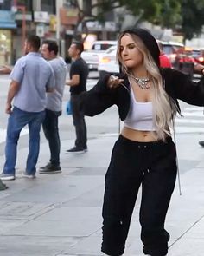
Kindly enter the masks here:
<path id="1" fill-rule="evenodd" d="M 45 40 L 41 45 L 43 56 L 54 70 L 55 86 L 52 93 L 47 94 L 45 120 L 42 128 L 48 140 L 50 160 L 48 164 L 40 168 L 40 174 L 61 173 L 60 152 L 61 140 L 58 128 L 58 118 L 61 115 L 62 97 L 66 82 L 67 65 L 58 55 L 58 45 L 51 40 Z"/>

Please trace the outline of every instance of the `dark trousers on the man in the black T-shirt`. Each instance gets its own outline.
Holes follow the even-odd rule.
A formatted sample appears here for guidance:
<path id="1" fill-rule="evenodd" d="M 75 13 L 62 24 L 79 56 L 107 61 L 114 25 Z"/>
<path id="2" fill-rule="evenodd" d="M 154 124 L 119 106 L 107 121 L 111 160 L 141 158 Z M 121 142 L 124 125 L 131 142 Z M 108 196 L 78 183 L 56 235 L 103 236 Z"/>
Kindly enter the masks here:
<path id="1" fill-rule="evenodd" d="M 79 149 L 86 149 L 87 132 L 84 113 L 79 107 L 79 96 L 71 95 L 71 105 L 73 110 L 73 125 L 76 131 L 75 146 Z"/>

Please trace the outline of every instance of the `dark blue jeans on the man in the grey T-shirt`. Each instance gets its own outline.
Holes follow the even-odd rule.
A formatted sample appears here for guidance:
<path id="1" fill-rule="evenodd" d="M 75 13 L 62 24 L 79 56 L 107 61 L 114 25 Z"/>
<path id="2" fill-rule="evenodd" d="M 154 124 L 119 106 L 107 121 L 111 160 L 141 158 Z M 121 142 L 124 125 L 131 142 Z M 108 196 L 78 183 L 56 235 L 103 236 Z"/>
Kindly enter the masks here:
<path id="1" fill-rule="evenodd" d="M 58 128 L 58 117 L 61 111 L 51 111 L 46 109 L 45 120 L 42 123 L 44 134 L 49 143 L 50 162 L 54 166 L 60 165 L 61 141 Z"/>

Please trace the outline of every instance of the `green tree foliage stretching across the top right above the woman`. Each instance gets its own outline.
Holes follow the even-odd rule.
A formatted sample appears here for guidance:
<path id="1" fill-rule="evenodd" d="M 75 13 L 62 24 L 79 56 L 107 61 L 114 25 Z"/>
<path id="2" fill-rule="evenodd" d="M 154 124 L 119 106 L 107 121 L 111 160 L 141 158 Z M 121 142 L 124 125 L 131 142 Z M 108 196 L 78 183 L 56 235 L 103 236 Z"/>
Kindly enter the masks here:
<path id="1" fill-rule="evenodd" d="M 88 10 L 80 8 L 79 0 L 71 0 L 71 4 L 78 9 L 74 37 L 77 36 L 80 25 L 87 35 L 87 22 L 103 23 L 109 11 L 121 7 L 136 17 L 135 26 L 147 21 L 162 28 L 178 30 L 182 32 L 184 39 L 199 35 L 204 25 L 203 0 L 99 0 L 92 1 Z"/>

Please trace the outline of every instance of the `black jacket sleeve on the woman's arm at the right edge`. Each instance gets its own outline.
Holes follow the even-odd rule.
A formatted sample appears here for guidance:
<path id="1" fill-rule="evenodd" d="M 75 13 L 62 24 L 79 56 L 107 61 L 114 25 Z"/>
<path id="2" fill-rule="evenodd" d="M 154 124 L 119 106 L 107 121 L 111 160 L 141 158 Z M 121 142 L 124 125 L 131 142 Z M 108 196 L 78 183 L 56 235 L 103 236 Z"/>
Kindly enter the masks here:
<path id="1" fill-rule="evenodd" d="M 182 72 L 167 69 L 165 71 L 166 91 L 173 98 L 196 106 L 204 106 L 204 77 L 193 82 Z"/>

